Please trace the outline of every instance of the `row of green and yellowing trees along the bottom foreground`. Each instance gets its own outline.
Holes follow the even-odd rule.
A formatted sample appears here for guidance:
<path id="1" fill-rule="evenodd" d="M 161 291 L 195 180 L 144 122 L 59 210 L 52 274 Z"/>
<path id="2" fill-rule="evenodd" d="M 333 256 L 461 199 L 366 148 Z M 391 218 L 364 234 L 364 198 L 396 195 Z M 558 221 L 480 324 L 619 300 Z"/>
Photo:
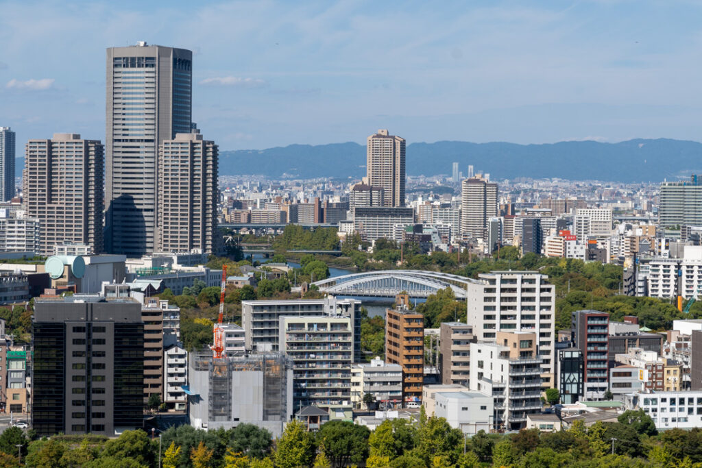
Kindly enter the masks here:
<path id="1" fill-rule="evenodd" d="M 612 443 L 614 439 L 614 443 Z M 0 435 L 0 467 L 88 468 L 702 468 L 702 429 L 658 434 L 641 410 L 618 422 L 581 420 L 569 429 L 512 434 L 479 431 L 464 437 L 444 418 L 385 420 L 375 430 L 347 421 L 307 432 L 303 422 L 286 424 L 279 439 L 253 424 L 204 431 L 171 427 L 151 438 L 142 430 L 117 439 L 53 436 L 33 440 L 11 427 Z M 160 463 L 160 465 L 159 465 Z"/>

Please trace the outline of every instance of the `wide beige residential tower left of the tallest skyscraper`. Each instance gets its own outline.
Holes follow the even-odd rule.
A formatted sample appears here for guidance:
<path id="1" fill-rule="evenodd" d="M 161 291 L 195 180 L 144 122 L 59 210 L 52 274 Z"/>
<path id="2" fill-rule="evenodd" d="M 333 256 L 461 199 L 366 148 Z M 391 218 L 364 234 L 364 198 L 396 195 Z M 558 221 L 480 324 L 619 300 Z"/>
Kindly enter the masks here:
<path id="1" fill-rule="evenodd" d="M 102 143 L 77 133 L 27 142 L 22 196 L 27 218 L 41 223 L 41 255 L 67 242 L 102 253 L 103 164 Z"/>

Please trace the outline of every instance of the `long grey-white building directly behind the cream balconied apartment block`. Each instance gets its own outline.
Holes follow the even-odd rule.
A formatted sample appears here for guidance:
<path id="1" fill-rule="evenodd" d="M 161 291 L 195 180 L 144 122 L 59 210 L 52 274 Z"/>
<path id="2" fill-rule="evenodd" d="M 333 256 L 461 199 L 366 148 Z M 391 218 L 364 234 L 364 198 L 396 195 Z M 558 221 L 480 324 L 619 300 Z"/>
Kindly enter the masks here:
<path id="1" fill-rule="evenodd" d="M 345 316 L 351 319 L 354 338 L 354 361 L 361 359 L 361 302 L 354 299 L 244 300 L 241 301 L 241 325 L 246 337 L 246 351 L 279 350 L 280 317 Z"/>

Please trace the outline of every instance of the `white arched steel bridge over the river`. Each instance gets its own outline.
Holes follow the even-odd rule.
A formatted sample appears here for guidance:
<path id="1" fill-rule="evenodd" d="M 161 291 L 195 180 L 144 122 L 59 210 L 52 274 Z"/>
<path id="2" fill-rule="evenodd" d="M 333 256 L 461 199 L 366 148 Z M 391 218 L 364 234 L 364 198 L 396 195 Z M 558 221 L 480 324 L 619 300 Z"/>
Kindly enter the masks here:
<path id="1" fill-rule="evenodd" d="M 465 299 L 474 279 L 456 274 L 416 269 L 388 269 L 334 276 L 314 281 L 319 290 L 331 295 L 395 297 L 407 291 L 410 297 L 429 297 L 439 289 L 451 288 L 456 299 Z"/>

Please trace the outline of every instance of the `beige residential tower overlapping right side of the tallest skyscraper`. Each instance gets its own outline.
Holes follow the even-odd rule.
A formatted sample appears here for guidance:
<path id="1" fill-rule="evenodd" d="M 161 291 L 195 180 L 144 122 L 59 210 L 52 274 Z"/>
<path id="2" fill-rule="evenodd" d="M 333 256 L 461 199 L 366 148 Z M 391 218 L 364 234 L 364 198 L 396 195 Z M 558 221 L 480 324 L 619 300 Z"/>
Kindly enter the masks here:
<path id="1" fill-rule="evenodd" d="M 216 251 L 218 147 L 197 130 L 159 147 L 159 252 Z"/>

